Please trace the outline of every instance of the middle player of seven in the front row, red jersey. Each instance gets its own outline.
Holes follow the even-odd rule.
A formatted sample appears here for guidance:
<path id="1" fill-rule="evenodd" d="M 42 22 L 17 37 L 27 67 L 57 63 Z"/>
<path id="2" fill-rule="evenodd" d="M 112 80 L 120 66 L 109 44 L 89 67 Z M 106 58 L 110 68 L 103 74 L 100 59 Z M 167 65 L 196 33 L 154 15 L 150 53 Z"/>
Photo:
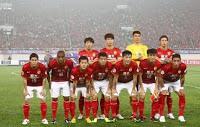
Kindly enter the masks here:
<path id="1" fill-rule="evenodd" d="M 108 119 L 108 115 L 110 110 L 111 85 L 113 78 L 111 75 L 111 70 L 113 65 L 112 63 L 107 61 L 107 57 L 108 56 L 105 52 L 100 52 L 98 54 L 98 61 L 94 62 L 90 67 L 93 70 L 94 89 L 96 93 L 101 91 L 103 96 L 105 96 L 105 121 L 110 122 Z M 97 119 L 95 120 L 97 121 Z"/>

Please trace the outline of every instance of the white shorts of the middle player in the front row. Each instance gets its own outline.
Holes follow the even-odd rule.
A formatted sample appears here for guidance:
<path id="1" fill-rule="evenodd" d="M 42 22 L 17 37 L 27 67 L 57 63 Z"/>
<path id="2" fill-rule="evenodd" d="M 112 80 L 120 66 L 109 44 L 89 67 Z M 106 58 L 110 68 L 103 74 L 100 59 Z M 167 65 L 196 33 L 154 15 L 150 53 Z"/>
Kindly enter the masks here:
<path id="1" fill-rule="evenodd" d="M 102 81 L 95 80 L 94 81 L 94 89 L 95 89 L 96 93 L 101 91 L 104 95 L 106 95 L 106 92 L 108 90 L 108 84 L 109 84 L 108 80 L 102 80 Z M 106 95 L 106 96 L 110 96 L 110 95 Z"/>

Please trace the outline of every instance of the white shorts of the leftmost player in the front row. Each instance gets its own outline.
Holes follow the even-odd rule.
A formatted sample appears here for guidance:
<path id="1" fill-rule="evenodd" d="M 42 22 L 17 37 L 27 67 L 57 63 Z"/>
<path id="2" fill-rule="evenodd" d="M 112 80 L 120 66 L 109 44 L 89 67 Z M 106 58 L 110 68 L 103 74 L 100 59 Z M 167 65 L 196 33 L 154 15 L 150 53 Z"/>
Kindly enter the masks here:
<path id="1" fill-rule="evenodd" d="M 25 99 L 31 99 L 34 95 L 36 95 L 37 98 L 45 99 L 45 97 L 40 94 L 42 89 L 42 86 L 27 86 L 27 92 L 29 95 L 26 95 Z"/>

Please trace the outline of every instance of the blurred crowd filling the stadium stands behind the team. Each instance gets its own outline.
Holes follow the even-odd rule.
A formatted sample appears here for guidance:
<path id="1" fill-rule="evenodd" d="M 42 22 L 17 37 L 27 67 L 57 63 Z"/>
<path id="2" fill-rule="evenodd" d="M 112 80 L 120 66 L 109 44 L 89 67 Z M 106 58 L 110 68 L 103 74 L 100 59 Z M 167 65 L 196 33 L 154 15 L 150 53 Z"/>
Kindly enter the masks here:
<path id="1" fill-rule="evenodd" d="M 157 47 L 159 37 L 166 34 L 173 49 L 200 48 L 198 0 L 77 2 L 20 0 L 13 3 L 10 12 L 0 11 L 0 25 L 7 22 L 14 26 L 12 35 L 0 31 L 0 48 L 81 48 L 88 36 L 94 38 L 96 48 L 101 48 L 108 32 L 115 35 L 116 46 L 125 48 L 131 43 L 132 31 L 122 27 L 140 30 L 143 42 L 149 47 Z M 128 7 L 117 8 L 120 4 Z"/>

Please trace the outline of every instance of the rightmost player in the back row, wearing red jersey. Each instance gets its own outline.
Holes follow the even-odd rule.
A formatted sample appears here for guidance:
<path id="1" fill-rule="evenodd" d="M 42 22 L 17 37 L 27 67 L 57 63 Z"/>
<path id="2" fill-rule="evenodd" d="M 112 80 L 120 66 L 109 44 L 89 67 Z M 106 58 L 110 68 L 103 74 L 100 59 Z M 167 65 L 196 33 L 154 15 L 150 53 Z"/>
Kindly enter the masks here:
<path id="1" fill-rule="evenodd" d="M 168 42 L 168 37 L 166 35 L 162 35 L 159 38 L 159 41 L 160 41 L 160 47 L 157 49 L 157 59 L 161 62 L 162 65 L 165 65 L 171 62 L 174 51 L 168 47 L 169 42 Z M 167 107 L 168 107 L 167 117 L 170 119 L 175 119 L 172 113 L 171 92 L 173 92 L 173 89 L 170 87 L 169 94 L 167 95 L 167 99 L 166 99 Z"/>

